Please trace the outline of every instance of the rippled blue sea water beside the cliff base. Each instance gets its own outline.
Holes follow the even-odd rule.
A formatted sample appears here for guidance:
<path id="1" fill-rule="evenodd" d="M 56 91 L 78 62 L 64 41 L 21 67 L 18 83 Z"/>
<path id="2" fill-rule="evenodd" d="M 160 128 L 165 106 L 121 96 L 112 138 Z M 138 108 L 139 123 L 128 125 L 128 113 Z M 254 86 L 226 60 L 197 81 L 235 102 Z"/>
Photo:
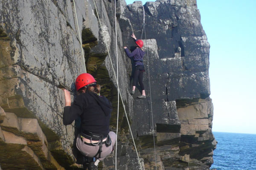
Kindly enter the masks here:
<path id="1" fill-rule="evenodd" d="M 256 134 L 213 132 L 218 141 L 212 167 L 217 170 L 256 170 Z"/>

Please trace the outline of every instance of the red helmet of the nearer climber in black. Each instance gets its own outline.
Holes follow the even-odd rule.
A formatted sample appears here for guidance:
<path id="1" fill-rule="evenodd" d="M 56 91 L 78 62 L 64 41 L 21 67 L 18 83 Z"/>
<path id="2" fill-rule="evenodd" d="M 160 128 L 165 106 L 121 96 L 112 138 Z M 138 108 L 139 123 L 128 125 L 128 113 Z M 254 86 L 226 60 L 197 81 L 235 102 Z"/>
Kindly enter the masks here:
<path id="1" fill-rule="evenodd" d="M 76 78 L 76 91 L 79 91 L 80 88 L 83 88 L 84 86 L 87 86 L 94 82 L 96 82 L 96 80 L 93 78 L 92 75 L 88 73 L 80 74 Z"/>

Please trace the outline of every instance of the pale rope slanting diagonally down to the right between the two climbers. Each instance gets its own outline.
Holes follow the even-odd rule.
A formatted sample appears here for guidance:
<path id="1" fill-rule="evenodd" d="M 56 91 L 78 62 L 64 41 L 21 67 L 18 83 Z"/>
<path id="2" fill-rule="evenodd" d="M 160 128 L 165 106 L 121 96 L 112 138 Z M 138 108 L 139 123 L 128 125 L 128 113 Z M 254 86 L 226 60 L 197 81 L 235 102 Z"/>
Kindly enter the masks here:
<path id="1" fill-rule="evenodd" d="M 96 9 L 96 13 L 97 13 L 97 16 L 98 16 L 98 19 L 99 19 L 99 13 L 98 13 L 98 10 L 97 10 L 97 7 L 96 7 L 95 0 L 93 0 L 93 3 L 94 3 L 95 9 Z M 102 24 L 101 24 L 101 22 L 100 22 L 100 19 L 99 19 L 99 25 L 100 25 L 100 28 L 101 28 L 102 34 L 103 34 L 103 29 L 102 29 Z M 112 69 L 113 69 L 114 77 L 115 77 L 116 82 L 117 82 L 116 73 L 115 73 L 115 71 L 114 71 L 113 63 L 112 63 L 112 60 L 111 60 L 111 57 L 110 57 L 110 54 L 109 54 L 108 45 L 107 45 L 107 43 L 106 43 L 104 34 L 103 34 L 103 40 L 104 40 L 104 42 L 105 42 L 105 44 L 106 44 L 106 48 L 107 48 L 107 51 L 108 51 L 108 56 L 109 56 L 109 59 L 110 59 L 110 62 L 111 62 L 111 67 L 112 67 Z M 117 88 L 119 89 L 118 83 L 117 83 Z M 120 92 L 120 89 L 119 89 L 119 94 L 120 94 L 120 98 L 121 98 L 121 101 L 122 101 L 122 105 L 123 105 L 123 108 L 124 108 L 124 111 L 125 111 L 125 105 L 124 105 L 124 102 L 123 102 L 123 100 L 122 100 L 122 94 L 121 94 L 121 92 Z M 127 119 L 127 122 L 128 122 L 129 130 L 130 130 L 130 132 L 131 132 L 131 138 L 132 138 L 132 140 L 133 140 L 133 142 L 134 142 L 134 137 L 133 137 L 133 135 L 132 135 L 131 126 L 130 126 L 130 123 L 129 123 L 129 120 L 128 120 L 128 115 L 127 115 L 126 111 L 125 111 L 125 116 L 126 116 L 126 119 Z M 118 121 L 118 120 L 117 120 L 117 121 Z M 117 128 L 118 128 L 118 127 L 117 127 Z M 116 134 L 116 135 L 117 135 L 117 134 Z M 116 141 L 116 142 L 117 142 L 117 141 Z M 140 164 L 140 169 L 143 170 L 143 169 L 142 169 L 142 166 L 141 166 L 141 163 L 140 163 L 140 157 L 139 157 L 139 154 L 138 154 L 138 151 L 137 151 L 135 142 L 134 142 L 134 148 L 135 148 L 136 153 L 137 153 L 138 161 L 139 161 L 139 164 Z"/>

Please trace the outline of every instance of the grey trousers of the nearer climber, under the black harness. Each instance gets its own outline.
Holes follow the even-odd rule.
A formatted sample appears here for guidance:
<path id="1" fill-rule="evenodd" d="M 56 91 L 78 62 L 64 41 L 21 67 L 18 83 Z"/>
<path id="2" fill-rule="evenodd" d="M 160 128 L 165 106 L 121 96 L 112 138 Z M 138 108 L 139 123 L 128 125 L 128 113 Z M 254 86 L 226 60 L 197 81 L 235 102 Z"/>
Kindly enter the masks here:
<path id="1" fill-rule="evenodd" d="M 99 158 L 100 161 L 102 161 L 106 156 L 108 156 L 109 154 L 111 154 L 112 150 L 113 150 L 113 146 L 116 143 L 116 133 L 114 132 L 109 132 L 108 133 L 110 138 L 111 138 L 111 146 L 106 147 L 105 144 L 102 145 L 102 153 L 101 156 Z M 84 156 L 88 156 L 90 158 L 92 158 L 93 156 L 96 155 L 96 153 L 99 150 L 99 145 L 98 146 L 89 146 L 87 144 L 84 144 L 84 142 L 80 139 L 80 135 L 78 135 L 78 137 L 76 138 L 76 147 L 78 148 L 78 150 L 84 155 Z M 97 155 L 96 157 L 98 157 L 99 155 Z"/>

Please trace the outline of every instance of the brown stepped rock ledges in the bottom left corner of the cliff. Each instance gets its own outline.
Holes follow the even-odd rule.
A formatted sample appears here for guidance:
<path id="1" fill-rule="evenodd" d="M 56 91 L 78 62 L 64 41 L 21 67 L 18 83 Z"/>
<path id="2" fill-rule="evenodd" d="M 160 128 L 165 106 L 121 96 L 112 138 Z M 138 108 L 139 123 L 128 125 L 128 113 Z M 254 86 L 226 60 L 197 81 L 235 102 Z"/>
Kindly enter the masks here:
<path id="1" fill-rule="evenodd" d="M 52 144 L 47 142 L 37 119 L 6 113 L 0 126 L 0 157 L 4 169 L 64 170 L 49 152 Z"/>

